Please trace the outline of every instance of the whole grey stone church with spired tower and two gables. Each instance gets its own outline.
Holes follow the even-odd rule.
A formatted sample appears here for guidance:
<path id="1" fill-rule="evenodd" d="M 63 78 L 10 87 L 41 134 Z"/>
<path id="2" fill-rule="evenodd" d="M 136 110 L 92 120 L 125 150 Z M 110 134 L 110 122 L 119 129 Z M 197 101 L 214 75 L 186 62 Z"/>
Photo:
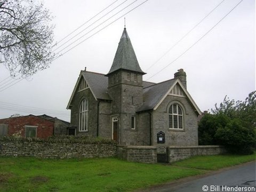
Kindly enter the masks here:
<path id="1" fill-rule="evenodd" d="M 143 81 L 124 28 L 107 74 L 82 70 L 67 109 L 73 134 L 116 140 L 119 145 L 197 146 L 201 111 L 187 91 L 186 73 L 161 83 Z"/>

